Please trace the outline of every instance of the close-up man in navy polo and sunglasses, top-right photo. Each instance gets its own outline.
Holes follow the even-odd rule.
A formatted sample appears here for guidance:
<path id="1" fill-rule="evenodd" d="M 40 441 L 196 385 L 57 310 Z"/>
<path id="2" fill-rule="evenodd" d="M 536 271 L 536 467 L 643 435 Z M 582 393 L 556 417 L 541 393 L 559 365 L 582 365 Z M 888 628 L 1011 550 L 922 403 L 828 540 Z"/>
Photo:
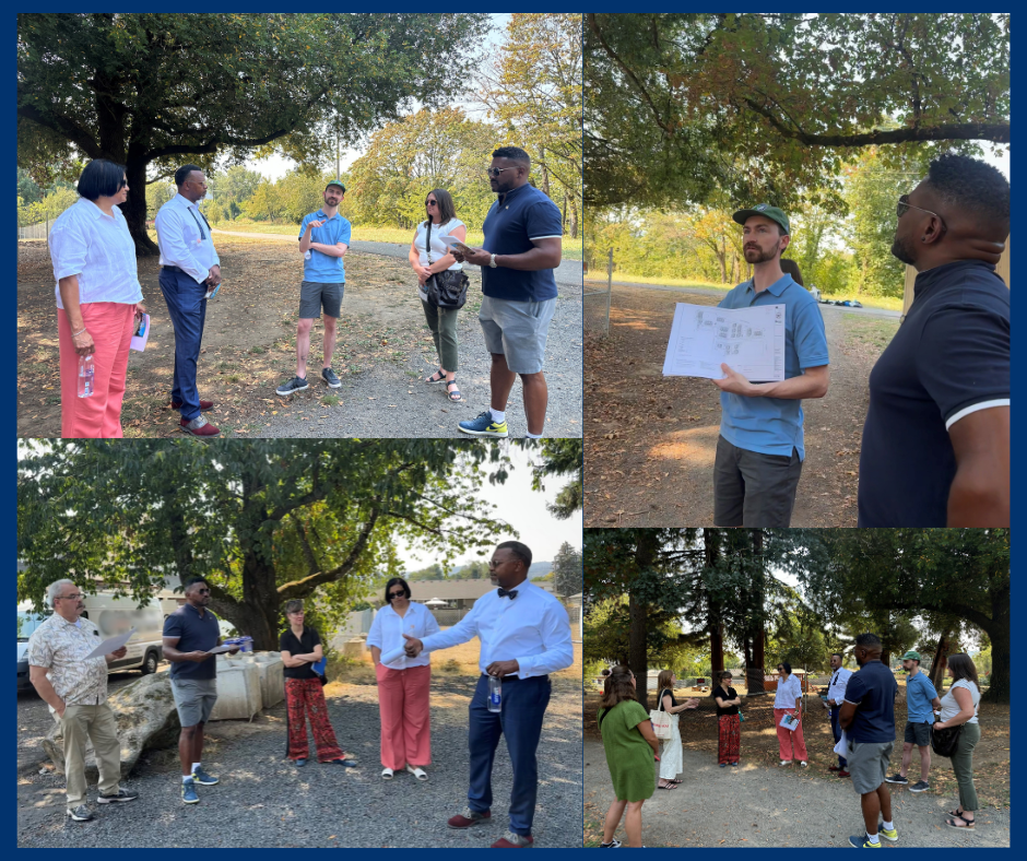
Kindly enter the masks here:
<path id="1" fill-rule="evenodd" d="M 1010 524 L 1010 182 L 964 155 L 899 198 L 913 304 L 870 374 L 859 526 Z"/>

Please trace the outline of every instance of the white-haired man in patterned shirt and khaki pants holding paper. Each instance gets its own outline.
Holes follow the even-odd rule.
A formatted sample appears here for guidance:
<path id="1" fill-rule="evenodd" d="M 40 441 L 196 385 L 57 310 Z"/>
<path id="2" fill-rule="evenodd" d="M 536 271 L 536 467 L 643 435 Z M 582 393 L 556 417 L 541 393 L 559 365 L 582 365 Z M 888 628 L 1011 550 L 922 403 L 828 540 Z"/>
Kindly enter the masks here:
<path id="1" fill-rule="evenodd" d="M 85 743 L 96 752 L 101 804 L 135 801 L 139 794 L 118 786 L 121 752 L 118 724 L 107 705 L 107 664 L 123 658 L 122 646 L 104 658 L 86 658 L 102 641 L 99 628 L 81 617 L 82 591 L 71 580 L 47 587 L 54 615 L 28 638 L 28 679 L 60 721 L 64 739 L 67 812 L 75 822 L 93 818 L 85 802 Z"/>

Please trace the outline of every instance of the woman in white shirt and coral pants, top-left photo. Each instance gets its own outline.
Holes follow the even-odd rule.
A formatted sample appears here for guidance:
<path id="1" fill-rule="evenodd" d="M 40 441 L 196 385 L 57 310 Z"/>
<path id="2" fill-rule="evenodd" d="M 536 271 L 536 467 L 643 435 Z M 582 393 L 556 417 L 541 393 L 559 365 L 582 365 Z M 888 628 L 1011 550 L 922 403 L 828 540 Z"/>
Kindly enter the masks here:
<path id="1" fill-rule="evenodd" d="M 142 319 L 135 244 L 119 203 L 128 200 L 122 165 L 97 158 L 79 177 L 79 200 L 54 222 L 61 436 L 120 438 L 129 343 Z M 93 393 L 79 397 L 80 356 L 92 356 Z"/>

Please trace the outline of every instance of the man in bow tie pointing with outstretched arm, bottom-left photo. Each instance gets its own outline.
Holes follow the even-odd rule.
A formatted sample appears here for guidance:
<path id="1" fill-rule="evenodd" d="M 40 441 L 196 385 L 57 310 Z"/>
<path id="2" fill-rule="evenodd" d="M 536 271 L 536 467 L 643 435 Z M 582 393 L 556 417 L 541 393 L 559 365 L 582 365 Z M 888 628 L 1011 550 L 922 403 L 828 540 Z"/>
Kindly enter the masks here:
<path id="1" fill-rule="evenodd" d="M 452 816 L 450 828 L 470 828 L 492 817 L 492 765 L 506 736 L 514 767 L 510 793 L 510 830 L 492 845 L 494 849 L 523 849 L 532 845 L 531 823 L 535 813 L 539 768 L 535 750 L 542 720 L 550 703 L 550 673 L 574 663 L 570 620 L 563 604 L 529 582 L 531 551 L 519 541 L 499 544 L 488 563 L 488 576 L 499 588 L 474 603 L 461 622 L 420 640 L 406 638 L 406 653 L 436 651 L 459 646 L 473 637 L 482 642 L 482 671 L 471 699 L 471 781 L 468 806 Z M 488 677 L 503 679 L 500 711 L 488 710 Z"/>

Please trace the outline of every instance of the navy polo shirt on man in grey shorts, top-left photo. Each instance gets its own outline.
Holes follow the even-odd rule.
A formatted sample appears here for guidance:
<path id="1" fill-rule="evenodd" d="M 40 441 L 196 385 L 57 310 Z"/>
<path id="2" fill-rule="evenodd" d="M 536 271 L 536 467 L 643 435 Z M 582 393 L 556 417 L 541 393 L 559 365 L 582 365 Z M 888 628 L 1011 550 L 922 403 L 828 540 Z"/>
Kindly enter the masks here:
<path id="1" fill-rule="evenodd" d="M 507 191 L 496 199 L 482 224 L 482 248 L 494 255 L 522 255 L 535 246 L 532 239 L 563 238 L 564 222 L 556 204 L 530 185 Z M 543 302 L 556 298 L 552 269 L 522 272 L 506 267 L 482 267 L 482 293 L 509 302 Z"/>

